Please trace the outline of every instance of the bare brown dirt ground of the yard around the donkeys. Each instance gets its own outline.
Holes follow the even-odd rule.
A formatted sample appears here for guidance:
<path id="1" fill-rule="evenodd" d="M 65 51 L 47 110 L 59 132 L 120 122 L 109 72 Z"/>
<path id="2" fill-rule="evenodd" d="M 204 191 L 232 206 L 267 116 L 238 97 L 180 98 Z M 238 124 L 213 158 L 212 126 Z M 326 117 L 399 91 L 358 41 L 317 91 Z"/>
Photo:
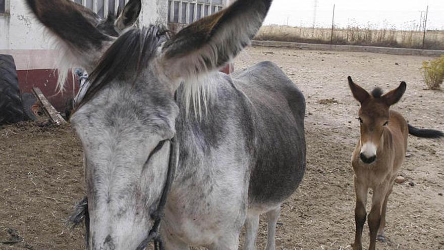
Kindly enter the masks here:
<path id="1" fill-rule="evenodd" d="M 236 70 L 269 60 L 299 86 L 307 100 L 307 171 L 283 205 L 278 249 L 351 249 L 354 238 L 350 157 L 359 137 L 358 104 L 348 75 L 367 89 L 407 82 L 393 109 L 415 126 L 444 130 L 444 91 L 424 90 L 418 68 L 425 57 L 252 47 Z M 407 158 L 388 202 L 388 243 L 377 249 L 444 249 L 444 140 L 409 137 Z M 16 124 L 0 128 L 0 249 L 84 249 L 83 228 L 65 226 L 84 195 L 82 148 L 67 127 Z M 368 227 L 364 228 L 368 244 Z M 11 236 L 15 235 L 15 236 Z M 264 249 L 261 222 L 258 249 Z"/>

